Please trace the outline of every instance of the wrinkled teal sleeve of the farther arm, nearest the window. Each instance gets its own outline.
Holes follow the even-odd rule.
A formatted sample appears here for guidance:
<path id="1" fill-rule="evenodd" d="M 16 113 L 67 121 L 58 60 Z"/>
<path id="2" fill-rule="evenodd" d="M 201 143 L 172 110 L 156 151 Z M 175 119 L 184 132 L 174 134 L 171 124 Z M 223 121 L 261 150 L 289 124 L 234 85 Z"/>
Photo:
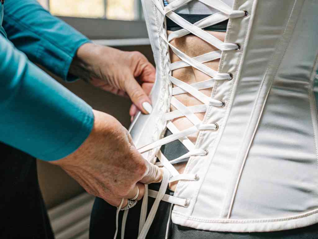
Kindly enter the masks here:
<path id="1" fill-rule="evenodd" d="M 89 40 L 52 16 L 36 0 L 6 0 L 3 28 L 8 39 L 27 57 L 67 81 L 77 49 Z"/>

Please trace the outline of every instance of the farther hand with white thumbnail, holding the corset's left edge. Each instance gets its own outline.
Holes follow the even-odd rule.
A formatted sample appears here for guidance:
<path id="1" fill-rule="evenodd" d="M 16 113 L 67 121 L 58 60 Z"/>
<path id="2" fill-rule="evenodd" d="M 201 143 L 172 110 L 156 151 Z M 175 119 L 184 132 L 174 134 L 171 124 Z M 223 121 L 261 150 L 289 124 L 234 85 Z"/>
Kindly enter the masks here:
<path id="1" fill-rule="evenodd" d="M 148 95 L 156 69 L 140 52 L 86 43 L 79 47 L 70 73 L 105 91 L 128 95 L 133 102 L 129 111 L 131 119 L 138 109 L 144 114 L 152 111 Z"/>

